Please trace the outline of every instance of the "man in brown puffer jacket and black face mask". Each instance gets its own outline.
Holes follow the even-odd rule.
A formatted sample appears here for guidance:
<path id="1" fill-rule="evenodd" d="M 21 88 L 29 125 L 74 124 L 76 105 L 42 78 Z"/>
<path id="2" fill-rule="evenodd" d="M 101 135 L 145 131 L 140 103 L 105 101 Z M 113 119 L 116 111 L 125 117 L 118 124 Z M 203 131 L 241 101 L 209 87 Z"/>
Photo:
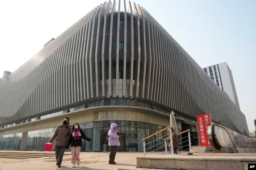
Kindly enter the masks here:
<path id="1" fill-rule="evenodd" d="M 70 133 L 71 128 L 69 127 L 69 118 L 65 117 L 61 125 L 57 126 L 52 138 L 49 141 L 52 143 L 52 141 L 54 141 L 54 139 L 57 137 L 55 142 L 55 157 L 58 168 L 61 168 L 61 162 Z"/>

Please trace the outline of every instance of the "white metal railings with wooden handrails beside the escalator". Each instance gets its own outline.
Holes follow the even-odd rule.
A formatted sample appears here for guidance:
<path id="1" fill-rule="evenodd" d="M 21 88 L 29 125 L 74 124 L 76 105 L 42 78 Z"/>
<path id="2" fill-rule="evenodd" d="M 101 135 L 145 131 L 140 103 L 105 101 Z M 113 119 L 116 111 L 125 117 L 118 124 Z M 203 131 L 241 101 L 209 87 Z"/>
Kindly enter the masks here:
<path id="1" fill-rule="evenodd" d="M 169 152 L 171 152 L 171 154 L 174 154 L 174 153 L 173 153 L 173 141 L 172 141 L 172 139 L 171 139 L 171 142 L 168 142 L 168 139 L 170 139 L 170 137 L 167 137 L 168 135 L 171 136 L 171 132 L 167 133 L 166 135 L 162 135 L 162 136 L 160 135 L 161 137 L 158 137 L 157 139 L 154 139 L 154 140 L 152 140 L 152 141 L 150 141 L 150 142 L 148 142 L 148 143 L 146 144 L 146 140 L 147 140 L 147 139 L 150 139 L 150 138 L 152 138 L 152 137 L 154 137 L 154 136 L 156 136 L 156 135 L 158 135 L 158 134 L 160 134 L 160 133 L 162 133 L 162 132 L 168 130 L 169 128 L 171 128 L 171 126 L 168 126 L 167 128 L 164 128 L 164 129 L 160 130 L 159 132 L 156 132 L 156 133 L 154 133 L 154 134 L 152 134 L 152 135 L 150 135 L 150 136 L 145 137 L 144 139 L 142 139 L 142 141 L 143 141 L 143 152 L 144 152 L 144 156 L 146 155 L 146 151 L 148 151 L 148 154 L 150 154 L 150 153 L 152 153 L 152 152 L 158 152 L 159 154 L 163 154 L 163 153 L 168 154 L 168 147 L 167 147 L 167 146 L 169 146 L 170 143 L 171 143 L 171 150 L 170 150 Z M 182 145 L 182 146 L 179 147 L 178 149 L 184 148 L 184 147 L 186 147 L 186 146 L 189 146 L 189 149 L 182 150 L 182 151 L 180 151 L 180 152 L 184 152 L 184 151 L 189 150 L 189 152 L 191 153 L 191 139 L 190 139 L 190 132 L 189 132 L 189 131 L 190 131 L 190 130 L 186 130 L 186 131 L 184 131 L 184 132 L 177 133 L 178 136 L 181 135 L 181 134 L 183 134 L 183 133 L 188 133 L 187 136 L 178 139 L 178 141 L 179 141 L 179 146 Z M 166 138 L 164 138 L 164 137 L 166 137 Z M 186 140 L 186 139 L 187 139 L 187 140 Z M 157 141 L 160 141 L 160 142 L 158 142 L 157 144 L 154 144 L 154 143 L 156 143 Z M 184 143 L 187 143 L 187 142 L 188 142 L 189 144 L 186 144 L 186 145 L 183 146 L 183 144 L 184 144 Z"/>

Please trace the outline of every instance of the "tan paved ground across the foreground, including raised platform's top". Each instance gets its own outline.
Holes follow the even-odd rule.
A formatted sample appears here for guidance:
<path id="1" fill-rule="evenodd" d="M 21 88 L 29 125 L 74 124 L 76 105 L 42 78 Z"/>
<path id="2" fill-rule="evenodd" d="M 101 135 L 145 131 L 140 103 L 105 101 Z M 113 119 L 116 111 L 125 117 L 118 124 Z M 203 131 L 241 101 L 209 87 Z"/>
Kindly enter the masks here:
<path id="1" fill-rule="evenodd" d="M 0 151 L 0 152 L 30 152 L 30 151 Z M 31 153 L 44 153 L 43 151 Z M 187 161 L 197 161 L 203 159 L 208 159 L 210 161 L 214 160 L 224 160 L 224 161 L 245 161 L 256 163 L 256 154 L 217 154 L 217 153 L 204 153 L 204 154 L 178 154 L 178 155 L 171 155 L 171 154 L 146 154 L 144 156 L 143 152 L 117 152 L 115 162 L 116 165 L 109 165 L 108 158 L 109 152 L 81 152 L 80 154 L 80 166 L 72 168 L 71 163 L 71 153 L 65 152 L 63 157 L 63 161 L 61 164 L 61 168 L 57 168 L 56 166 L 56 159 L 55 159 L 55 152 L 46 152 L 51 153 L 50 157 L 39 157 L 39 158 L 28 158 L 28 159 L 10 159 L 6 157 L 0 158 L 0 170 L 153 170 L 150 168 L 137 168 L 137 157 L 145 157 L 145 159 L 156 158 L 159 161 L 164 159 L 175 159 L 175 160 L 184 160 L 182 163 L 186 163 Z M 139 160 L 139 159 L 138 159 Z M 216 162 L 218 163 L 218 162 Z M 216 165 L 214 164 L 214 166 Z M 193 163 L 192 163 L 193 164 Z M 196 165 L 198 166 L 198 165 Z M 247 165 L 248 166 L 248 165 Z M 241 167 L 240 169 L 248 170 L 246 164 Z M 217 166 L 218 167 L 218 166 Z M 215 168 L 217 168 L 215 167 Z M 196 167 L 194 167 L 196 168 Z M 223 168 L 221 168 L 222 170 Z M 154 169 L 156 170 L 156 169 Z M 161 170 L 161 169 L 158 169 Z M 166 169 L 165 169 L 166 170 Z M 173 170 L 168 168 L 168 170 Z"/>

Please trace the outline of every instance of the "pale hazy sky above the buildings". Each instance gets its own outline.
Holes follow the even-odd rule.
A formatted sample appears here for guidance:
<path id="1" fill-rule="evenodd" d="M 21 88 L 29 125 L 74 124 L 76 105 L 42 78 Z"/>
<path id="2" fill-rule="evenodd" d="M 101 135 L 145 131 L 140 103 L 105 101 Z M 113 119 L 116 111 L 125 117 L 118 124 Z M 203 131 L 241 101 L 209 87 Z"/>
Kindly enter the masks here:
<path id="1" fill-rule="evenodd" d="M 15 71 L 48 40 L 57 38 L 104 2 L 0 0 L 0 78 L 4 71 Z M 249 131 L 253 131 L 256 119 L 256 1 L 131 2 L 146 9 L 202 68 L 227 62 L 240 109 L 246 116 Z"/>

